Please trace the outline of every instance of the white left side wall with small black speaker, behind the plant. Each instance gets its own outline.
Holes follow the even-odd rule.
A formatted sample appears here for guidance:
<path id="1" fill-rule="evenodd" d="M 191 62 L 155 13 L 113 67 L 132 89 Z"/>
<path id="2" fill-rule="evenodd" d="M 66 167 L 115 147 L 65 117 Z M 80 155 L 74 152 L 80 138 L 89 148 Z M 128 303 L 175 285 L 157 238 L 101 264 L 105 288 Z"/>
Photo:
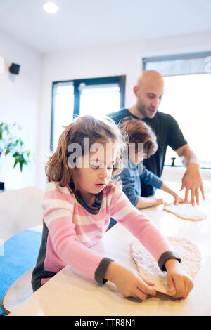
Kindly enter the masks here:
<path id="1" fill-rule="evenodd" d="M 0 73 L 0 122 L 20 124 L 21 138 L 32 152 L 32 164 L 23 168 L 23 173 L 19 165 L 13 169 L 9 155 L 1 159 L 0 180 L 5 181 L 6 189 L 36 185 L 41 55 L 0 32 L 0 56 L 4 58 L 4 73 Z M 8 72 L 11 62 L 20 65 L 18 75 Z"/>

